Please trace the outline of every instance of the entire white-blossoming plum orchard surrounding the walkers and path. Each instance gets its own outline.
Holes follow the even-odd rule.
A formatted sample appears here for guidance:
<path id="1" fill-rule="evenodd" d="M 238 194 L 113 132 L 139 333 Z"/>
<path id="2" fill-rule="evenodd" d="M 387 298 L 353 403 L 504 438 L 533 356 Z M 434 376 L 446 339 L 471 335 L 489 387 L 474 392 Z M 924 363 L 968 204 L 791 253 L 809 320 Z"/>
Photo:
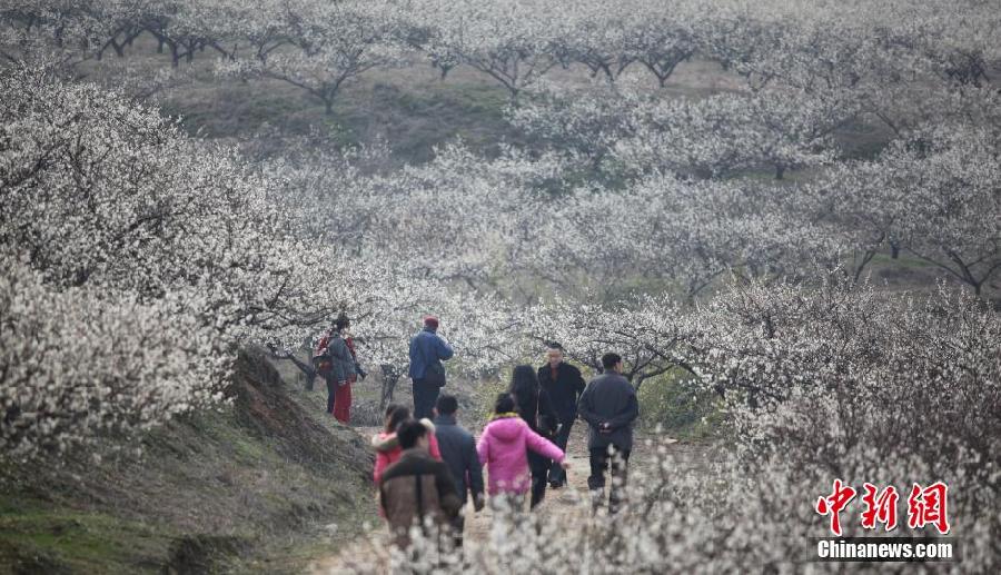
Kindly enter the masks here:
<path id="1" fill-rule="evenodd" d="M 2 0 L 0 458 L 226 413 L 241 350 L 339 314 L 384 407 L 432 313 L 464 397 L 545 343 L 615 350 L 711 398 L 725 454 L 472 542 L 477 571 L 838 571 L 806 563 L 834 479 L 948 484 L 947 567 L 998 571 L 998 30 L 990 0 Z M 489 146 L 351 141 L 380 90 L 489 95 L 439 112 Z M 283 106 L 212 137 L 235 93 Z"/>

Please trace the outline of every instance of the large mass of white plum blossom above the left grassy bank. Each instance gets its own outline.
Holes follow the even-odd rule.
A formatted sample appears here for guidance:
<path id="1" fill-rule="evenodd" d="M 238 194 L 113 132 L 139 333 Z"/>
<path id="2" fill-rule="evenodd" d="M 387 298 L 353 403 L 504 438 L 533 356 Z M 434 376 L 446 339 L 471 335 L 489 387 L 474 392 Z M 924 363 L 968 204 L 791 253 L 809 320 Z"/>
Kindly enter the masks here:
<path id="1" fill-rule="evenodd" d="M 156 111 L 29 70 L 6 70 L 0 96 L 0 244 L 18 274 L 3 298 L 20 340 L 4 329 L 0 387 L 17 453 L 205 405 L 240 343 L 300 341 L 394 294 L 392 274 L 275 232 L 294 226 L 265 201 L 268 181 Z"/>

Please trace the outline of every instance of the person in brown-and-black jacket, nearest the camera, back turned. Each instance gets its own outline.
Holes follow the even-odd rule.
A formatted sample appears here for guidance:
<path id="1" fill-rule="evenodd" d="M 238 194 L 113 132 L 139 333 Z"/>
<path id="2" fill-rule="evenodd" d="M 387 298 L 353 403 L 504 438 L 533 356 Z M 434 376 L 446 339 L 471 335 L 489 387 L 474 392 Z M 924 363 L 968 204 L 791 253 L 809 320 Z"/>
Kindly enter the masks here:
<path id="1" fill-rule="evenodd" d="M 379 506 L 397 546 L 410 546 L 410 527 L 428 523 L 445 536 L 459 513 L 462 502 L 448 466 L 428 453 L 427 427 L 407 419 L 396 432 L 403 455 L 386 468 L 379 482 Z M 424 532 L 426 535 L 427 531 Z M 439 543 L 445 539 L 438 539 Z"/>

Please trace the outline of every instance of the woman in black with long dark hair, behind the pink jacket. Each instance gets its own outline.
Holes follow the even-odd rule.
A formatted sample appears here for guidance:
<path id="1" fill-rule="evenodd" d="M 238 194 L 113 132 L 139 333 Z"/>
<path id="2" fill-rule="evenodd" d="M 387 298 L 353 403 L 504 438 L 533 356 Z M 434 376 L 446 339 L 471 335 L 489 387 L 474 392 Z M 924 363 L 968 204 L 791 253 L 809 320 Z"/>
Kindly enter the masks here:
<path id="1" fill-rule="evenodd" d="M 516 366 L 511 374 L 508 391 L 517 404 L 518 416 L 528 424 L 533 432 L 552 442 L 558 425 L 556 412 L 553 410 L 549 394 L 539 387 L 535 369 L 532 366 Z M 533 509 L 546 496 L 546 475 L 552 465 L 552 458 L 533 452 L 528 453 L 528 468 L 532 470 L 531 506 Z"/>

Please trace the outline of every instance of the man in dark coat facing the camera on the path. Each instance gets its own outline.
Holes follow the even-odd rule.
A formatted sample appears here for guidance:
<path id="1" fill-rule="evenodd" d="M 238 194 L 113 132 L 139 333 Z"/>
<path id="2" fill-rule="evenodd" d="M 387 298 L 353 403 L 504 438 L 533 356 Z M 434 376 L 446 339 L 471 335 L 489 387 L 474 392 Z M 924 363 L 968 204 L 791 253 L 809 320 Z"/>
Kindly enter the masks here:
<path id="1" fill-rule="evenodd" d="M 546 365 L 538 368 L 538 383 L 553 404 L 553 409 L 558 418 L 556 436 L 553 439 L 564 453 L 569 442 L 569 433 L 577 418 L 577 401 L 584 393 L 584 376 L 576 367 L 563 360 L 563 347 L 559 344 L 549 344 L 546 350 Z M 553 465 L 549 469 L 549 485 L 556 489 L 566 485 L 566 470 Z"/>

